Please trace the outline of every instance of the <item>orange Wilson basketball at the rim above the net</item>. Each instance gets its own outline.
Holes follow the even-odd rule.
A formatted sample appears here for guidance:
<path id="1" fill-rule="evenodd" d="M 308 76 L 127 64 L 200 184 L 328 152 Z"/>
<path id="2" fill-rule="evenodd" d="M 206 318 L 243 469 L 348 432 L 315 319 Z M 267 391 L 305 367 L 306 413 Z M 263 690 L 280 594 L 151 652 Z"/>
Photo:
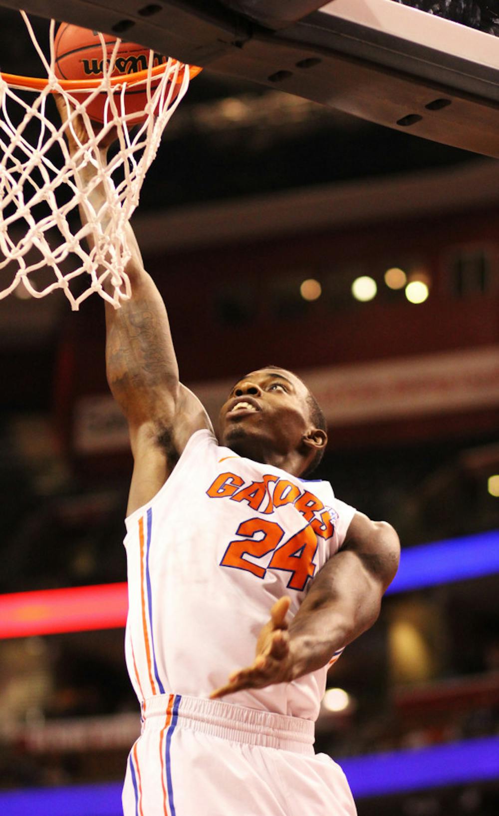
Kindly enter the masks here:
<path id="1" fill-rule="evenodd" d="M 107 59 L 111 58 L 117 38 L 104 34 Z M 103 76 L 104 52 L 99 39 L 99 33 L 91 29 L 82 29 L 77 25 L 61 23 L 55 34 L 55 75 L 59 79 L 99 79 Z M 166 62 L 166 57 L 154 54 L 153 66 Z M 121 42 L 116 56 L 113 77 L 125 76 L 129 73 L 148 69 L 149 49 L 139 46 L 136 42 Z M 152 90 L 157 87 L 159 79 L 152 82 Z M 178 91 L 177 91 L 178 92 Z M 174 94 L 176 95 L 176 93 Z M 78 99 L 85 95 L 78 93 Z M 117 109 L 120 110 L 121 95 L 119 88 L 116 92 Z M 86 106 L 86 111 L 94 122 L 104 123 L 104 105 L 107 94 L 102 93 L 95 97 Z M 146 120 L 144 108 L 148 101 L 145 84 L 126 90 L 124 106 L 126 114 L 136 113 L 132 124 L 139 124 Z"/>

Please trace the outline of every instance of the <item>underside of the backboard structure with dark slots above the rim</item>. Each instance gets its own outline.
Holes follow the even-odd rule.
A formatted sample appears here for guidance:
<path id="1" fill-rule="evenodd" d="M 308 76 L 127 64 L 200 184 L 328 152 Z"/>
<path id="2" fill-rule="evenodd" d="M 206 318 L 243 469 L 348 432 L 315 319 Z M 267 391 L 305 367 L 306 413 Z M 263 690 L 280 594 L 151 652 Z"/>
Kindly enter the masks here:
<path id="1" fill-rule="evenodd" d="M 58 0 L 1 0 L 60 16 Z M 284 7 L 284 10 L 281 8 Z M 371 122 L 499 157 L 499 40 L 393 0 L 67 0 L 68 22 L 133 38 Z"/>

